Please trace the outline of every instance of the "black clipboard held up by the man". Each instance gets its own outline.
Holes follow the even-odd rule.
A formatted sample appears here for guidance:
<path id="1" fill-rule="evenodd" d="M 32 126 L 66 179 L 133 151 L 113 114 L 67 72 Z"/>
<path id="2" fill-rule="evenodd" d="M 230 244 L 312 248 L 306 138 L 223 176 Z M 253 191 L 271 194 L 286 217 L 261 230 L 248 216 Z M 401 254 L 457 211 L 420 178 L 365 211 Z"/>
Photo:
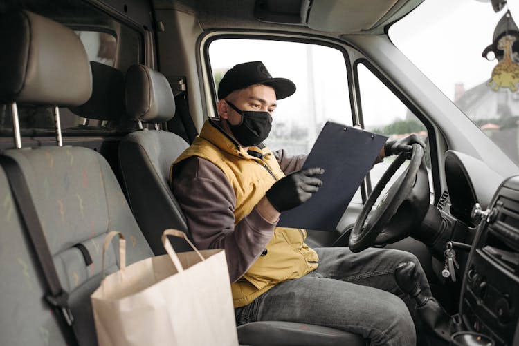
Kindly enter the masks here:
<path id="1" fill-rule="evenodd" d="M 280 216 L 278 226 L 335 231 L 349 202 L 388 137 L 327 122 L 304 168 L 321 167 L 323 184 L 305 203 Z"/>

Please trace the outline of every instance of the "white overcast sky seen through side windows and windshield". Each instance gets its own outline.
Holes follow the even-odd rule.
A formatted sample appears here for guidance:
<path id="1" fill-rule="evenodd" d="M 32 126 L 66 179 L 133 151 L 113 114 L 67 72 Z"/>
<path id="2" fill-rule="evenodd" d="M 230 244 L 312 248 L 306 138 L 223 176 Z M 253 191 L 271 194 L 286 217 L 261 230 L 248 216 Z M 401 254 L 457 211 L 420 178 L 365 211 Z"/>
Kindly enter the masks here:
<path id="1" fill-rule="evenodd" d="M 497 61 L 487 61 L 482 51 L 491 44 L 495 25 L 505 11 L 493 12 L 491 3 L 484 0 L 426 0 L 395 23 L 389 35 L 453 99 L 455 84 L 463 83 L 468 89 L 491 77 Z M 351 124 L 346 70 L 338 50 L 292 42 L 221 39 L 210 45 L 210 60 L 213 70 L 260 60 L 273 77 L 295 82 L 295 95 L 278 102 L 274 125 L 276 121 L 322 124 L 327 119 Z M 313 61 L 312 68 L 308 61 Z M 367 128 L 406 116 L 406 107 L 367 69 L 360 68 L 359 78 Z"/>

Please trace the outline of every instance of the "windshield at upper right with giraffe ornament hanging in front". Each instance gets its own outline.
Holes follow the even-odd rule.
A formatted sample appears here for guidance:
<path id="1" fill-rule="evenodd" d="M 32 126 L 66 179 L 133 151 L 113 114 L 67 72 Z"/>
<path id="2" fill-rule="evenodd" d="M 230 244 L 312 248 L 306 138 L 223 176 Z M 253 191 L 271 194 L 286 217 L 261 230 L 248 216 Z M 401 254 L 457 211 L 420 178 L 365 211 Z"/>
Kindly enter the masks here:
<path id="1" fill-rule="evenodd" d="M 389 35 L 519 166 L 519 32 L 507 7 L 496 13 L 490 1 L 426 0 Z"/>

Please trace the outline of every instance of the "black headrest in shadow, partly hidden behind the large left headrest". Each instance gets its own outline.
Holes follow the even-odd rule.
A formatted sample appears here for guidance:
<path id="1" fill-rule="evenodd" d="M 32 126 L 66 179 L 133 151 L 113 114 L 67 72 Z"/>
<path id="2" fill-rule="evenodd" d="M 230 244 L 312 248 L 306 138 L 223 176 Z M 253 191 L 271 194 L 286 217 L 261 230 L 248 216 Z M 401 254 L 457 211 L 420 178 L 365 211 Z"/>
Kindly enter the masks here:
<path id="1" fill-rule="evenodd" d="M 92 96 L 73 113 L 98 120 L 117 120 L 125 114 L 125 75 L 111 66 L 91 61 Z"/>

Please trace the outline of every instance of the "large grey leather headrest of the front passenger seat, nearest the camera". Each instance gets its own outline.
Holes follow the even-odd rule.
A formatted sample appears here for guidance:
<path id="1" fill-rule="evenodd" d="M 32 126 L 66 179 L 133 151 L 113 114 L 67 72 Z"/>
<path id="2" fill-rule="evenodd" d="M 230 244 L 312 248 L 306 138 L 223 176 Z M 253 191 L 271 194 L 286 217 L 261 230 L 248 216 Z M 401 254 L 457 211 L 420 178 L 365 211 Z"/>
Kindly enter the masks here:
<path id="1" fill-rule="evenodd" d="M 71 29 L 32 12 L 7 12 L 0 45 L 1 101 L 78 106 L 89 99 L 89 60 Z"/>

